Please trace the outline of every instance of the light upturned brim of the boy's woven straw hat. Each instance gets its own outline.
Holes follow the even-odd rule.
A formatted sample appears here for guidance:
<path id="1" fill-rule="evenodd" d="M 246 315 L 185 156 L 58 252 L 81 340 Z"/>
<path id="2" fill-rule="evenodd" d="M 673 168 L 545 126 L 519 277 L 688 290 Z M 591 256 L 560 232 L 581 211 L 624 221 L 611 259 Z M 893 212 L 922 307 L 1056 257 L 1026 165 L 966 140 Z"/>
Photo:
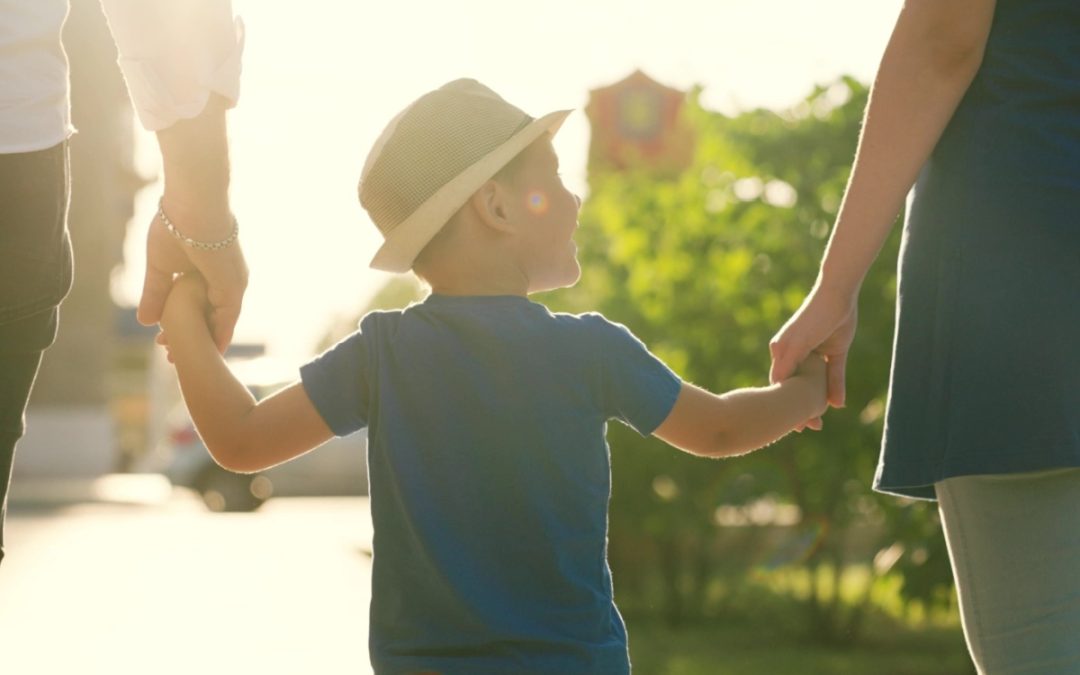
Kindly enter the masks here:
<path id="1" fill-rule="evenodd" d="M 413 262 L 423 247 L 473 192 L 541 134 L 554 135 L 570 112 L 572 110 L 556 110 L 534 120 L 504 144 L 441 187 L 387 234 L 382 246 L 372 258 L 370 267 L 386 272 L 407 272 L 413 269 Z"/>

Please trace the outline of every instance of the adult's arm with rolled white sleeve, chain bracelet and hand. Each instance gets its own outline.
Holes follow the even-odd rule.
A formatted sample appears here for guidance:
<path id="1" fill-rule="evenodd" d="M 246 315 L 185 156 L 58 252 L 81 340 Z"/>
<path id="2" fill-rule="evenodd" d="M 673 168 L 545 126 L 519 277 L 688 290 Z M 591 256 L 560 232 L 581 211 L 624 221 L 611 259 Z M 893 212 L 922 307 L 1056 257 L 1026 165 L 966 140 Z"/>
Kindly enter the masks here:
<path id="1" fill-rule="evenodd" d="M 229 0 L 102 0 L 118 64 L 143 125 L 158 134 L 164 212 L 185 235 L 218 242 L 233 229 L 226 110 L 240 97 L 241 22 Z M 240 318 L 247 265 L 240 242 L 214 252 L 181 244 L 161 218 L 147 232 L 138 319 L 158 323 L 178 272 L 206 280 L 214 340 L 225 351 Z"/>

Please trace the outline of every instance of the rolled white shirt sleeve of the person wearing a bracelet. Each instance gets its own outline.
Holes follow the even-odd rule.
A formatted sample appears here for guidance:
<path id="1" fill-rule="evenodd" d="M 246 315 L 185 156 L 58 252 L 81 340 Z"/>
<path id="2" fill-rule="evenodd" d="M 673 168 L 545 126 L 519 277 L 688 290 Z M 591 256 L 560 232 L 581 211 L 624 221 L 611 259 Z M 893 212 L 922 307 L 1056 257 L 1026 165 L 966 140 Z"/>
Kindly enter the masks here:
<path id="1" fill-rule="evenodd" d="M 198 116 L 211 94 L 240 98 L 244 25 L 230 0 L 100 0 L 143 126 Z"/>

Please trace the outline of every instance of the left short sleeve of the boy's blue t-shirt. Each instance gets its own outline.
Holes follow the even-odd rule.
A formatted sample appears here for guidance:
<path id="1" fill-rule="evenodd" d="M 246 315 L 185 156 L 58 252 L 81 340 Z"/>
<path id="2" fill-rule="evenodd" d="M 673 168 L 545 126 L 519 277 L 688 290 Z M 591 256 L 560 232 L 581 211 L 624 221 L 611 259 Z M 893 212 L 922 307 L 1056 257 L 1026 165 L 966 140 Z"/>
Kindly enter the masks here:
<path id="1" fill-rule="evenodd" d="M 367 426 L 368 355 L 363 329 L 300 367 L 300 381 L 326 426 L 347 436 Z"/>

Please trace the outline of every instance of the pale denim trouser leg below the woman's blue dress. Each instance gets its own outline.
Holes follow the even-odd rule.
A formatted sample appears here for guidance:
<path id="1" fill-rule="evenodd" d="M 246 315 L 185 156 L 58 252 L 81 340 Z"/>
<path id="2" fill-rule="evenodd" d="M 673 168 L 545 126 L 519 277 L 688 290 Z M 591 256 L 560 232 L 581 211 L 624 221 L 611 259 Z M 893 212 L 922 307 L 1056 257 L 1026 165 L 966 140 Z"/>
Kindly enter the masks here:
<path id="1" fill-rule="evenodd" d="M 1080 469 L 935 488 L 978 672 L 1080 674 Z"/>

